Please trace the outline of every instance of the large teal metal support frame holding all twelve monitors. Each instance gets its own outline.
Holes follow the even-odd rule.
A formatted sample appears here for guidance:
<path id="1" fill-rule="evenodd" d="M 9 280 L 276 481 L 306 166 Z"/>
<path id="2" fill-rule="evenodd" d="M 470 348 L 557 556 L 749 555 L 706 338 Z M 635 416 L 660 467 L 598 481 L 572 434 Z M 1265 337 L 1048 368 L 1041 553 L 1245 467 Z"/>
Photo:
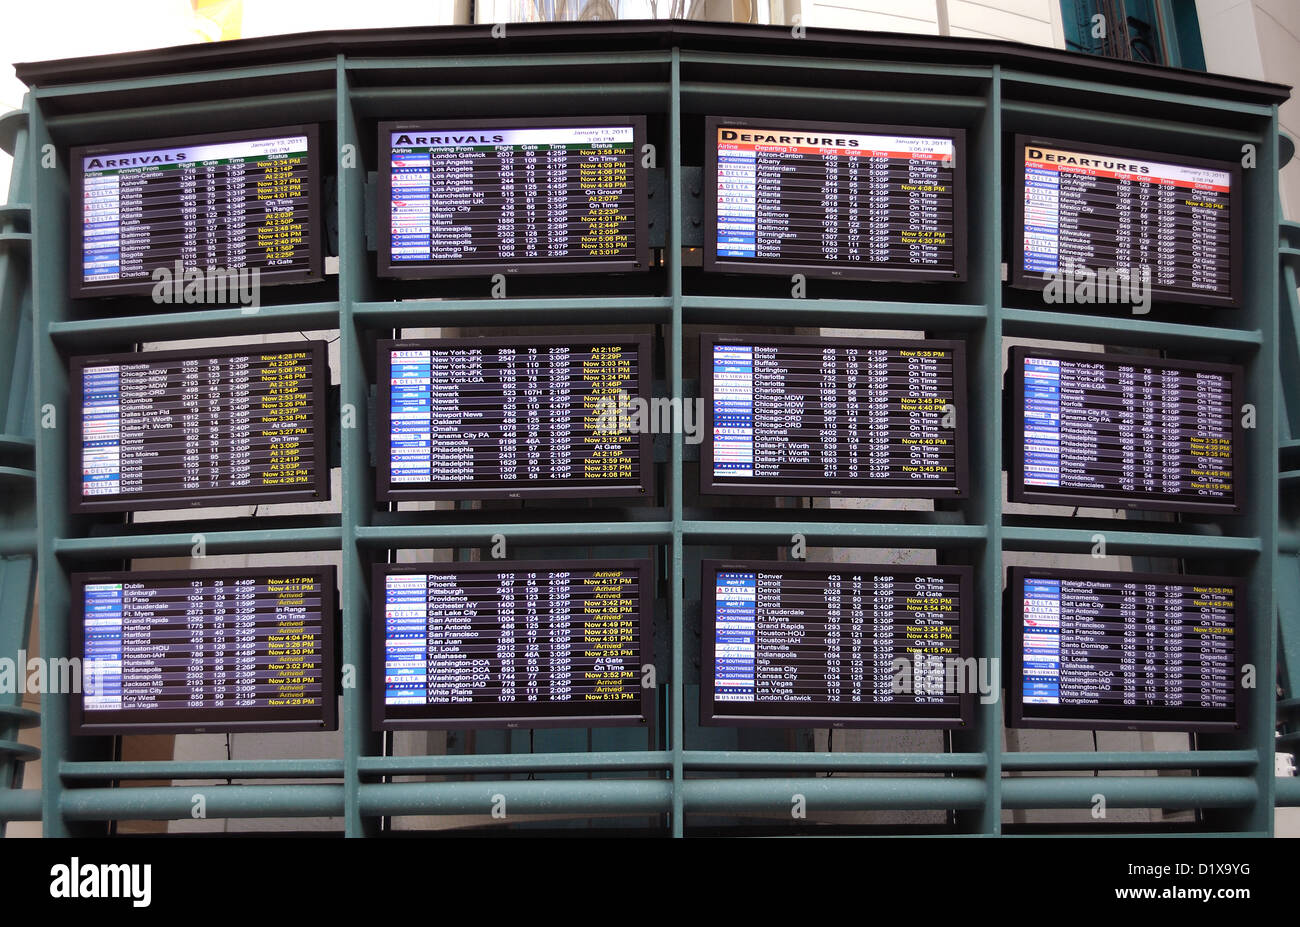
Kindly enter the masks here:
<path id="1" fill-rule="evenodd" d="M 0 494 L 6 498 L 0 512 L 0 655 L 26 642 L 35 588 L 43 655 L 66 657 L 72 571 L 105 560 L 186 556 L 190 550 L 187 523 L 130 529 L 98 524 L 87 530 L 82 520 L 70 517 L 64 489 L 68 436 L 61 429 L 69 413 L 68 355 L 103 343 L 335 329 L 338 412 L 341 421 L 352 423 L 339 429 L 338 512 L 308 519 L 306 527 L 274 520 L 224 524 L 208 533 L 207 545 L 211 554 L 341 551 L 338 650 L 350 685 L 342 690 L 343 753 L 329 759 L 117 762 L 104 740 L 70 735 L 66 696 L 46 696 L 39 716 L 39 790 L 14 788 L 14 771 L 32 755 L 17 744 L 17 731 L 32 724 L 35 715 L 0 694 L 0 824 L 39 819 L 46 835 L 66 836 L 101 833 L 110 820 L 187 818 L 194 788 L 136 783 L 238 777 L 261 784 L 203 787 L 208 816 L 335 816 L 352 837 L 382 833 L 382 822 L 395 815 L 486 816 L 497 794 L 508 797 L 512 819 L 541 814 L 637 819 L 650 822 L 642 829 L 671 836 L 688 835 L 692 815 L 760 814 L 788 820 L 793 794 L 805 796 L 810 814 L 941 810 L 950 813 L 956 835 L 996 836 L 1004 829 L 1004 811 L 1088 809 L 1097 783 L 1104 781 L 1106 802 L 1114 807 L 1196 809 L 1200 832 L 1270 835 L 1274 809 L 1300 803 L 1296 780 L 1275 780 L 1273 761 L 1278 714 L 1271 685 L 1279 676 L 1282 719 L 1288 725 L 1284 742 L 1296 742 L 1300 733 L 1300 698 L 1290 688 L 1290 680 L 1300 679 L 1300 512 L 1291 504 L 1294 485 L 1300 482 L 1300 438 L 1292 436 L 1300 436 L 1300 428 L 1292 428 L 1287 417 L 1300 416 L 1300 226 L 1279 221 L 1280 91 L 1212 75 L 1197 81 L 1157 68 L 1108 68 L 1043 49 L 1031 55 L 1009 43 L 922 46 L 904 38 L 885 42 L 815 30 L 796 42 L 784 30 L 680 25 L 645 26 L 636 40 L 615 31 L 603 42 L 582 31 L 511 30 L 510 43 L 495 44 L 480 27 L 442 30 L 420 48 L 403 44 L 415 42 L 406 34 L 342 34 L 320 44 L 304 40 L 300 49 L 292 43 L 264 49 L 256 57 L 244 57 L 250 47 L 235 43 L 226 57 L 204 59 L 202 66 L 183 53 L 164 51 L 156 53 L 161 62 L 151 59 L 147 68 L 140 64 L 134 70 L 135 59 L 118 56 L 103 66 L 103 79 L 79 77 L 98 69 L 77 62 L 66 75 L 43 66 L 22 72 L 32 87 L 26 108 L 0 117 L 0 146 L 16 156 L 10 205 L 0 207 L 0 351 L 13 360 L 8 378 L 0 365 Z M 456 42 L 443 42 L 451 34 Z M 577 38 L 564 38 L 572 35 Z M 465 43 L 481 53 L 460 47 Z M 737 51 L 740 43 L 749 43 L 748 51 Z M 593 73 L 607 77 L 582 82 Z M 1046 79 L 1054 95 L 1043 92 Z M 185 101 L 160 103 L 159 88 L 172 85 L 187 87 Z M 1063 105 L 1061 94 L 1070 94 L 1074 105 Z M 419 291 L 400 290 L 399 299 L 376 277 L 367 241 L 368 231 L 373 234 L 367 228 L 368 196 L 373 195 L 367 169 L 376 165 L 367 164 L 365 152 L 373 152 L 377 118 L 585 109 L 646 113 L 663 124 L 656 160 L 667 177 L 668 202 L 662 209 L 667 229 L 663 265 L 656 270 L 662 285 L 653 293 L 566 296 L 521 287 L 520 295 L 488 299 L 485 285 L 482 298 L 467 296 L 463 289 L 439 298 L 439 285 L 432 282 Z M 686 254 L 698 244 L 701 229 L 682 168 L 697 168 L 702 152 L 689 127 L 702 114 L 745 113 L 800 118 L 854 113 L 862 122 L 963 126 L 970 161 L 968 278 L 949 291 L 952 300 L 878 298 L 870 286 L 861 287 L 867 299 L 844 287 L 820 299 L 815 282 L 811 298 L 786 298 L 781 278 L 772 278 L 774 286 L 753 298 L 703 291 L 707 287 L 694 283 Z M 107 315 L 69 299 L 68 170 L 62 163 L 44 166 L 48 152 L 62 159 L 69 144 L 109 138 L 304 121 L 334 129 L 337 151 L 322 152 L 321 163 L 337 176 L 337 293 L 304 299 L 286 287 L 268 293 L 273 304 L 254 315 L 221 308 L 155 313 L 147 307 Z M 164 124 L 168 129 L 159 130 Z M 1132 135 L 1152 150 L 1165 142 L 1205 147 L 1221 157 L 1254 146 L 1256 168 L 1244 172 L 1240 200 L 1249 217 L 1242 251 L 1244 307 L 1204 317 L 1188 309 L 1117 320 L 1004 304 L 1009 216 L 1002 178 L 1017 131 L 1065 138 L 1097 134 L 1110 140 Z M 663 451 L 662 499 L 629 510 L 619 520 L 593 521 L 588 510 L 577 507 L 500 511 L 494 521 L 488 512 L 471 521 L 456 520 L 451 512 L 403 517 L 410 514 L 377 508 L 368 443 L 368 352 L 376 335 L 403 326 L 611 322 L 655 325 L 663 334 L 666 369 L 660 373 L 666 394 L 673 398 L 688 397 L 693 386 L 686 378 L 693 337 L 688 326 L 880 328 L 962 338 L 968 346 L 972 399 L 970 498 L 952 508 L 902 515 L 774 510 L 762 520 L 720 517 L 689 498 L 684 475 L 694 462 L 682 434 L 676 433 Z M 1001 702 L 991 702 L 976 705 L 972 723 L 954 732 L 941 751 L 809 753 L 693 742 L 696 706 L 688 697 L 697 616 L 686 589 L 688 571 L 706 547 L 784 546 L 792 534 L 802 533 L 811 546 L 940 551 L 942 558 L 974 567 L 976 653 L 992 658 L 1002 653 L 1004 551 L 1088 551 L 1091 529 L 1062 519 L 1002 514 L 1005 421 L 997 397 L 1008 337 L 1160 346 L 1244 365 L 1258 428 L 1247 433 L 1242 482 L 1279 486 L 1280 527 L 1279 501 L 1271 491 L 1256 491 L 1248 494 L 1244 515 L 1234 523 L 1115 520 L 1106 528 L 1112 553 L 1175 556 L 1190 571 L 1195 564 L 1226 564 L 1222 568 L 1247 580 L 1247 618 L 1254 633 L 1244 655 L 1256 668 L 1258 688 L 1248 698 L 1243 729 L 1201 737 L 1191 749 L 1176 751 L 1017 753 L 1002 744 Z M 40 428 L 47 415 L 53 424 Z M 512 549 L 656 550 L 668 573 L 660 603 L 670 621 L 662 638 L 668 647 L 656 654 L 664 681 L 662 742 L 651 741 L 645 749 L 582 750 L 571 748 L 572 738 L 556 737 L 526 754 L 507 753 L 507 746 L 488 753 L 384 755 L 384 740 L 370 729 L 369 712 L 369 566 L 399 549 L 478 547 L 495 533 L 506 534 Z M 1056 775 L 1101 770 L 1191 775 L 1104 780 Z M 1035 775 L 1020 775 L 1030 772 Z M 575 775 L 586 777 L 559 777 Z M 393 781 L 408 776 L 430 779 Z M 281 781 L 286 779 L 307 781 Z"/>

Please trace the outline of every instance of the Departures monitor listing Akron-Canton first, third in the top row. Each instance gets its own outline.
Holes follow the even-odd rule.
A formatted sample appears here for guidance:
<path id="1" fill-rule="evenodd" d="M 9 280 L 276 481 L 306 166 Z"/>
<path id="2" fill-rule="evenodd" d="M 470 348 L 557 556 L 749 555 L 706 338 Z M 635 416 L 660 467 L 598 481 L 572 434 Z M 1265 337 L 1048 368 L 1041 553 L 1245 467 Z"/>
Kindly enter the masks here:
<path id="1" fill-rule="evenodd" d="M 706 270 L 966 278 L 962 129 L 708 117 Z"/>

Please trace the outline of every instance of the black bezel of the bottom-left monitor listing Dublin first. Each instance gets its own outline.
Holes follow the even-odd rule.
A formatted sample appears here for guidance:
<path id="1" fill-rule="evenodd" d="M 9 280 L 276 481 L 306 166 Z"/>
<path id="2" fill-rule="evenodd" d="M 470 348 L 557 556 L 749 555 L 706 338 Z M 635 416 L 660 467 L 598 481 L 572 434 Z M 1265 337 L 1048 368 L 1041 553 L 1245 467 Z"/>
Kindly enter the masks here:
<path id="1" fill-rule="evenodd" d="M 338 663 L 335 629 L 338 628 L 338 568 L 333 564 L 292 564 L 287 567 L 230 567 L 228 569 L 140 569 L 73 573 L 69 577 L 73 601 L 69 607 L 69 653 L 86 659 L 86 593 L 88 582 L 135 582 L 194 579 L 256 579 L 259 576 L 312 576 L 321 584 L 321 707 L 309 715 L 292 709 L 181 709 L 198 720 L 169 718 L 161 722 L 130 720 L 130 716 L 153 718 L 155 710 L 124 710 L 108 722 L 88 722 L 83 705 L 84 693 L 69 699 L 69 723 L 74 735 L 143 735 L 143 733 L 239 733 L 250 731 L 337 731 L 338 729 Z M 108 714 L 108 712 L 104 712 Z M 127 715 L 121 718 L 121 715 Z M 234 718 L 231 719 L 231 715 Z M 205 720 L 209 719 L 211 720 Z"/>

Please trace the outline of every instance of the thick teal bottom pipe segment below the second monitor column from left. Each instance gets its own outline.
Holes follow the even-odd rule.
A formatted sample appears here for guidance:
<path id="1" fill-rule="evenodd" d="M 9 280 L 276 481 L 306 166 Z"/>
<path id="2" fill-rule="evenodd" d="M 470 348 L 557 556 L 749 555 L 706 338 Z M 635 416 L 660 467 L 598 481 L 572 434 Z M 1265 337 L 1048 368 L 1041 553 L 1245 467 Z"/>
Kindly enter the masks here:
<path id="1" fill-rule="evenodd" d="M 662 814 L 672 805 L 663 779 L 510 780 L 482 783 L 387 783 L 361 785 L 367 816 L 481 814 Z"/>

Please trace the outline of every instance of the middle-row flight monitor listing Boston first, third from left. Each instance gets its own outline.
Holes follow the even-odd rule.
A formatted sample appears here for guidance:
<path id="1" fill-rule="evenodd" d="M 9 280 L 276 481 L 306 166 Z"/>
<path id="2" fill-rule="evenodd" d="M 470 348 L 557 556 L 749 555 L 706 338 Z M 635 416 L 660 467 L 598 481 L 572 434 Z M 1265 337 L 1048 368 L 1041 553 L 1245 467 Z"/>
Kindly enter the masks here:
<path id="1" fill-rule="evenodd" d="M 702 493 L 966 493 L 966 347 L 703 334 Z"/>

